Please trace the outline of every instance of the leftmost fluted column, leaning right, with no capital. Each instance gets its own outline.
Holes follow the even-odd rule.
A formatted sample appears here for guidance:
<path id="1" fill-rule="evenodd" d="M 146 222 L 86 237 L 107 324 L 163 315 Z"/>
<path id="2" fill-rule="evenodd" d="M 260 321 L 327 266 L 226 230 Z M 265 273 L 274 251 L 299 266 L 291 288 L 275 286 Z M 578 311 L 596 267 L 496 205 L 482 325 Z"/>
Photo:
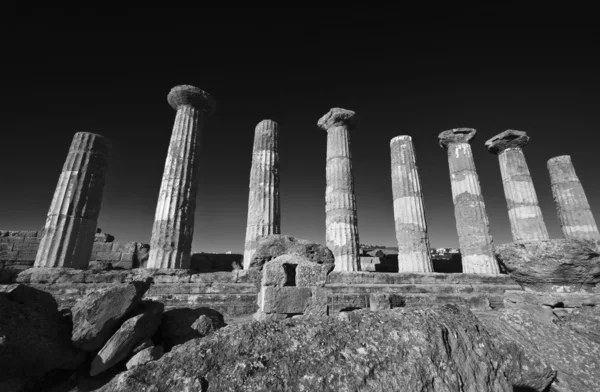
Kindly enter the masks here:
<path id="1" fill-rule="evenodd" d="M 35 267 L 86 269 L 102 205 L 108 141 L 94 133 L 73 137 L 46 218 Z"/>

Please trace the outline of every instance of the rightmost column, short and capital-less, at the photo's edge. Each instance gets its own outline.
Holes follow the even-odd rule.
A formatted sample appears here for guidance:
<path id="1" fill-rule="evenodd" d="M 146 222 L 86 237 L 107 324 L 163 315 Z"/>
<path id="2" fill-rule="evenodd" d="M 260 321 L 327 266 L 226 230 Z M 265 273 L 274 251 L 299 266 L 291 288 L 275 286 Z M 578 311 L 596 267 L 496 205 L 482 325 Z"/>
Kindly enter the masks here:
<path id="1" fill-rule="evenodd" d="M 600 240 L 596 220 L 569 155 L 548 161 L 552 195 L 565 238 Z"/>

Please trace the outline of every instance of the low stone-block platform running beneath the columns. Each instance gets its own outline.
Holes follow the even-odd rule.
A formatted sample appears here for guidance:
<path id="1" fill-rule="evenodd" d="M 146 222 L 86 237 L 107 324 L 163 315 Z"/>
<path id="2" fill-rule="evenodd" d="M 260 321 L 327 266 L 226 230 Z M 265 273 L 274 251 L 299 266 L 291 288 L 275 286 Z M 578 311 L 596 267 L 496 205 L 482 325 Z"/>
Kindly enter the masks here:
<path id="1" fill-rule="evenodd" d="M 145 295 L 167 309 L 209 307 L 226 317 L 253 314 L 261 273 L 255 270 L 198 272 L 194 270 L 73 270 L 30 268 L 15 282 L 25 283 L 54 296 L 61 309 L 72 307 L 87 293 L 151 277 L 154 284 Z M 0 285 L 0 290 L 2 286 Z M 285 287 L 295 290 L 301 287 Z M 305 288 L 308 289 L 308 288 Z M 311 301 L 326 305 L 326 313 L 368 308 L 372 294 L 401 298 L 402 306 L 432 303 L 464 304 L 474 310 L 503 306 L 507 290 L 521 290 L 508 275 L 445 273 L 331 272 L 322 287 L 309 288 Z"/>

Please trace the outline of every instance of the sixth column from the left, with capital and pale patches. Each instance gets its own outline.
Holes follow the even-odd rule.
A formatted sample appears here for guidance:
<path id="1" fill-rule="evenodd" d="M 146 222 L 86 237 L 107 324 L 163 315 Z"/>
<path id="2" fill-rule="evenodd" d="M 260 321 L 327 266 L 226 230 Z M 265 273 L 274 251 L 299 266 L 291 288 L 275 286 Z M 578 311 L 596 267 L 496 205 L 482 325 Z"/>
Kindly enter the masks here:
<path id="1" fill-rule="evenodd" d="M 497 274 L 500 270 L 494 257 L 490 223 L 469 144 L 476 133 L 474 129 L 457 128 L 444 131 L 438 137 L 440 146 L 448 150 L 463 272 Z"/>

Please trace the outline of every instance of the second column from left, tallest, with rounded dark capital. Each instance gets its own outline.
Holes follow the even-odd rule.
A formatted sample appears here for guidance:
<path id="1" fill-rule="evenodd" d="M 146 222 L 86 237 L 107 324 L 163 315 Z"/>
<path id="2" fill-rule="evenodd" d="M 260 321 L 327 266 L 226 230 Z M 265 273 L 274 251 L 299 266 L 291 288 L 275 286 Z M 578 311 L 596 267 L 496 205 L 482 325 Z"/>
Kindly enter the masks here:
<path id="1" fill-rule="evenodd" d="M 167 96 L 177 110 L 165 161 L 147 268 L 189 268 L 198 190 L 200 139 L 214 99 L 194 86 L 176 86 Z"/>

